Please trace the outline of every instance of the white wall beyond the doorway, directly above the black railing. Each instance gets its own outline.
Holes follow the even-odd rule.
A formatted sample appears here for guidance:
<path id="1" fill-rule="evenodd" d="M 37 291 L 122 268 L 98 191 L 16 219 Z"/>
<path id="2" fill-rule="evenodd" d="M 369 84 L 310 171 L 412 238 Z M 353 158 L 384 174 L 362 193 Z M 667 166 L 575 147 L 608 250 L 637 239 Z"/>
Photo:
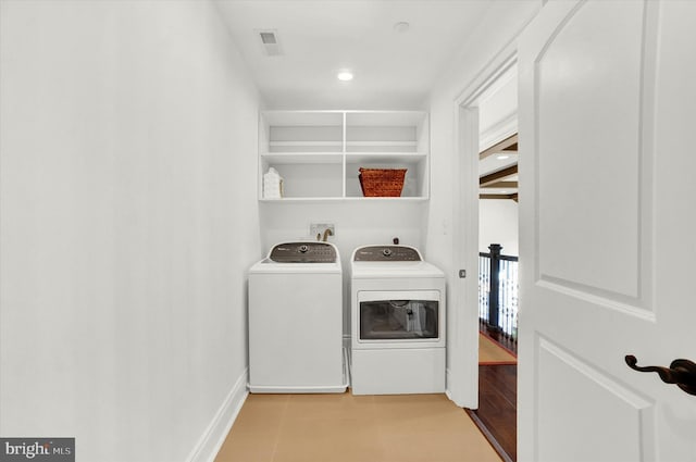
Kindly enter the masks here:
<path id="1" fill-rule="evenodd" d="M 518 229 L 515 201 L 502 199 L 478 201 L 480 252 L 489 252 L 489 245 L 499 244 L 502 246 L 502 254 L 518 257 Z"/>

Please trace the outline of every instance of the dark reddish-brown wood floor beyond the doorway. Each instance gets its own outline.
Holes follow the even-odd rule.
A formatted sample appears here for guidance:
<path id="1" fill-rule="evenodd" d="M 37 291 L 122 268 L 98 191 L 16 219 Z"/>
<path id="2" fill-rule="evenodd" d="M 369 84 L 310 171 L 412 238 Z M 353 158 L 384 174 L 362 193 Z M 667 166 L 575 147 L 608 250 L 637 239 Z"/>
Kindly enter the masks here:
<path id="1" fill-rule="evenodd" d="M 484 333 L 496 339 L 496 333 Z M 517 351 L 517 342 L 500 340 L 505 348 Z M 478 409 L 468 412 L 500 457 L 517 461 L 518 366 L 480 365 Z"/>

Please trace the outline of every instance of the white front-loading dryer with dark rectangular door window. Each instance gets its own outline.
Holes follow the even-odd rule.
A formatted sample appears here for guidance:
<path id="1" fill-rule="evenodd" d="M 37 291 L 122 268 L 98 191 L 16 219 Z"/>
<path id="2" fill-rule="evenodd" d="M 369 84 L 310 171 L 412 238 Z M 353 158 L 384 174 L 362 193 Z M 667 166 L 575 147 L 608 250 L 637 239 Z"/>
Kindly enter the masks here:
<path id="1" fill-rule="evenodd" d="M 353 395 L 445 391 L 445 274 L 408 246 L 356 249 L 350 264 Z"/>

